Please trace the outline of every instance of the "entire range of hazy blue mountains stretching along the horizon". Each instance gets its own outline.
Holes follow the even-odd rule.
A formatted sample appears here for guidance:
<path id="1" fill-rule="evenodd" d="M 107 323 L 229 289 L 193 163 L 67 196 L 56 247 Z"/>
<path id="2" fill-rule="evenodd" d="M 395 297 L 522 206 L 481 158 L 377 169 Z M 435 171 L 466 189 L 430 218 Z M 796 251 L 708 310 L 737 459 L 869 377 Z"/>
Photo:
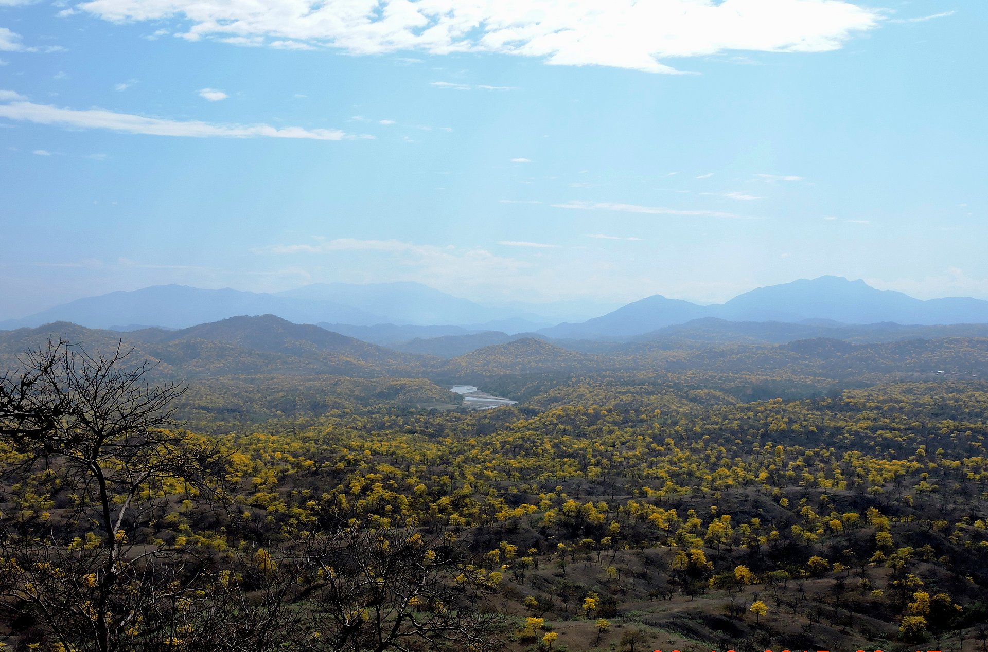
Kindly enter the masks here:
<path id="1" fill-rule="evenodd" d="M 278 293 L 156 285 L 77 299 L 21 319 L 0 322 L 0 329 L 37 327 L 57 321 L 119 331 L 147 326 L 186 329 L 238 315 L 274 314 L 290 322 L 318 324 L 388 346 L 416 338 L 465 337 L 448 342 L 446 355 L 457 355 L 474 342 L 505 343 L 508 339 L 502 336 L 510 339 L 520 333 L 535 332 L 552 339 L 623 341 L 708 318 L 814 327 L 884 322 L 988 323 L 988 301 L 969 297 L 921 300 L 840 277 L 760 287 L 712 305 L 655 294 L 586 321 L 554 326 L 553 320 L 538 314 L 536 308 L 522 303 L 512 307 L 485 306 L 414 283 L 315 284 Z M 500 335 L 483 335 L 491 331 Z M 405 350 L 434 352 L 428 344 Z"/>

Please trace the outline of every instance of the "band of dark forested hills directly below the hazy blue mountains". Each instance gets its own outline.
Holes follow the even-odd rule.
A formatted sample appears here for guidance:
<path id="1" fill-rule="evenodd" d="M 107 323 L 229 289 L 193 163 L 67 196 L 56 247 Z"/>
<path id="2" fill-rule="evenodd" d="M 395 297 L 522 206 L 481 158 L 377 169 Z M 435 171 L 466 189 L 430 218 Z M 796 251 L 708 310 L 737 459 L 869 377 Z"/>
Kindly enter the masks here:
<path id="1" fill-rule="evenodd" d="M 731 372 L 785 374 L 856 383 L 959 374 L 988 376 L 988 339 L 914 339 L 857 344 L 833 338 L 769 344 L 702 344 L 668 341 L 616 344 L 596 353 L 580 343 L 521 338 L 453 359 L 394 351 L 273 315 L 232 317 L 179 331 L 130 333 L 86 329 L 58 322 L 0 333 L 0 362 L 48 338 L 109 351 L 133 347 L 135 358 L 160 361 L 157 373 L 196 378 L 222 375 L 338 375 L 429 378 L 443 383 L 488 381 L 504 375 L 572 375 L 596 372 Z M 566 346 L 560 346 L 566 345 Z M 819 383 L 817 383 L 819 384 Z"/>

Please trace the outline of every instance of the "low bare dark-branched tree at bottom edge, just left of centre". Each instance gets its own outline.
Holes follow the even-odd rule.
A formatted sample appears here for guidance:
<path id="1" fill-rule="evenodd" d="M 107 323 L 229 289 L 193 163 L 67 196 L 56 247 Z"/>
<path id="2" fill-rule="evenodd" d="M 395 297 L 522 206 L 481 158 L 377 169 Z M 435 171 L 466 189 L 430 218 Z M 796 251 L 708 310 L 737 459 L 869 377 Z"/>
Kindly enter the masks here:
<path id="1" fill-rule="evenodd" d="M 383 652 L 491 648 L 499 617 L 486 605 L 500 581 L 474 567 L 453 532 L 367 530 L 348 524 L 303 541 L 309 639 L 302 649 Z M 496 648 L 495 648 L 496 649 Z"/>

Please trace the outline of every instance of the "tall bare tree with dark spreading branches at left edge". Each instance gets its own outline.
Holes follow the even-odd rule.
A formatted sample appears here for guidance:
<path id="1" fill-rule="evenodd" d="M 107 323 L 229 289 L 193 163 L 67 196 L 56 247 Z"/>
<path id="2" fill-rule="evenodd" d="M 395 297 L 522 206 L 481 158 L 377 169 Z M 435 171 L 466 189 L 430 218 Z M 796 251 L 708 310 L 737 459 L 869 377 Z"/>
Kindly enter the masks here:
<path id="1" fill-rule="evenodd" d="M 121 649 L 148 626 L 148 601 L 183 593 L 175 550 L 136 530 L 176 482 L 200 492 L 225 475 L 218 448 L 166 429 L 185 387 L 150 384 L 154 365 L 127 367 L 131 353 L 48 342 L 0 378 L 0 488 L 15 517 L 0 530 L 2 606 L 66 648 Z"/>

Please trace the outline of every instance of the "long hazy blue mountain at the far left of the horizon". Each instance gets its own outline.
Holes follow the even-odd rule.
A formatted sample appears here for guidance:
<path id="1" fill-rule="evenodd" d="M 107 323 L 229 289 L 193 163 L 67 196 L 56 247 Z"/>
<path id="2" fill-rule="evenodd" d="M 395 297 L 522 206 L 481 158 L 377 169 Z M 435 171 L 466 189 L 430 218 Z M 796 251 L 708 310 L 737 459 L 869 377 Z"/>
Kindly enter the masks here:
<path id="1" fill-rule="evenodd" d="M 115 324 L 151 324 L 186 328 L 235 315 L 277 314 L 297 323 L 320 321 L 375 324 L 388 319 L 360 308 L 310 299 L 236 289 L 200 289 L 187 285 L 153 285 L 77 299 L 23 319 L 0 322 L 0 328 L 35 327 L 70 321 L 90 328 Z"/>

